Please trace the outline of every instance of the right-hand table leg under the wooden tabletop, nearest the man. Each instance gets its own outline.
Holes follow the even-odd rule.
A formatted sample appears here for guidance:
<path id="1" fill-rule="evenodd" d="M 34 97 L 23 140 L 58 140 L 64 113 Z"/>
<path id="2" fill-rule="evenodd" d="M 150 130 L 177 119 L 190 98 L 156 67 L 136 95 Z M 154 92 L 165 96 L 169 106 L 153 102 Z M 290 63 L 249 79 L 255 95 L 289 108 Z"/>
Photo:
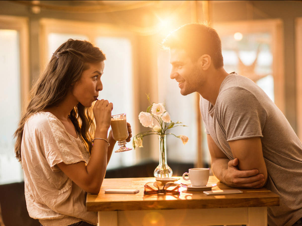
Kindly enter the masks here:
<path id="1" fill-rule="evenodd" d="M 249 207 L 247 226 L 267 226 L 267 207 Z"/>

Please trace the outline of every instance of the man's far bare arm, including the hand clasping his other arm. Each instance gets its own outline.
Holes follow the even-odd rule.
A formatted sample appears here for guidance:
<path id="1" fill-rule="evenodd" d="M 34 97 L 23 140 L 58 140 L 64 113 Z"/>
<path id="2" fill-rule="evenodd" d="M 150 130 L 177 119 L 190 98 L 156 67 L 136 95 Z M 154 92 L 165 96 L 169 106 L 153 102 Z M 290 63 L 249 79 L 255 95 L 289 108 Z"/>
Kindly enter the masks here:
<path id="1" fill-rule="evenodd" d="M 259 173 L 258 168 L 249 168 L 249 170 L 245 170 L 246 166 L 243 166 L 242 169 L 238 169 L 238 164 L 240 161 L 238 157 L 234 156 L 235 159 L 233 160 L 228 159 L 209 134 L 207 134 L 207 143 L 211 155 L 211 167 L 213 174 L 221 182 L 230 187 L 239 188 L 259 188 L 263 186 L 263 184 L 265 183 L 265 180 L 263 180 L 264 175 L 262 173 Z M 235 142 L 233 148 L 237 150 L 237 142 Z M 245 165 L 244 162 L 241 165 Z M 252 165 L 250 165 L 249 167 L 251 166 Z"/>

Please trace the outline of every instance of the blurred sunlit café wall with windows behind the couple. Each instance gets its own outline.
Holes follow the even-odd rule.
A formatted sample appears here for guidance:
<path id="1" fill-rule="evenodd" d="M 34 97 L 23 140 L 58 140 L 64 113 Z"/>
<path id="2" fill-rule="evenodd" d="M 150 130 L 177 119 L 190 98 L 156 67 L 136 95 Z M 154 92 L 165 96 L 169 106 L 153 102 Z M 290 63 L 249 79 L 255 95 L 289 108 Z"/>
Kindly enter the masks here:
<path id="1" fill-rule="evenodd" d="M 113 114 L 127 113 L 133 135 L 146 130 L 138 120 L 148 107 L 146 93 L 151 102 L 165 101 L 172 121 L 188 126 L 173 130 L 189 137 L 185 146 L 175 137 L 167 139 L 168 165 L 174 166 L 175 176 L 191 166 L 210 166 L 199 97 L 180 95 L 169 78 L 169 52 L 160 46 L 186 23 L 207 21 L 214 27 L 226 71 L 254 80 L 301 137 L 301 18 L 302 1 L 1 1 L 0 184 L 23 180 L 12 134 L 32 84 L 69 38 L 89 40 L 106 54 L 99 97 L 113 102 Z M 146 164 L 151 172 L 158 158 L 157 137 L 144 137 L 143 148 L 113 153 L 108 172 L 126 177 L 119 168 L 137 171 L 133 166 Z"/>

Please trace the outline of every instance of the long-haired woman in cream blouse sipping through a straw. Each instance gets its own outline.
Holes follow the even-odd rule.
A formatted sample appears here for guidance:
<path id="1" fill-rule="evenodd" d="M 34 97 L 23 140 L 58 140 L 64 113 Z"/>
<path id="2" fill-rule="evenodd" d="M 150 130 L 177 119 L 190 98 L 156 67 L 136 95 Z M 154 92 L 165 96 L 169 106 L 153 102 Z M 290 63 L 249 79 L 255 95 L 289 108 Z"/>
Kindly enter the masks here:
<path id="1" fill-rule="evenodd" d="M 90 42 L 63 43 L 31 91 L 14 134 L 27 210 L 43 226 L 97 224 L 97 213 L 85 209 L 85 192 L 100 191 L 116 142 L 112 131 L 107 138 L 113 104 L 97 99 L 105 59 Z"/>

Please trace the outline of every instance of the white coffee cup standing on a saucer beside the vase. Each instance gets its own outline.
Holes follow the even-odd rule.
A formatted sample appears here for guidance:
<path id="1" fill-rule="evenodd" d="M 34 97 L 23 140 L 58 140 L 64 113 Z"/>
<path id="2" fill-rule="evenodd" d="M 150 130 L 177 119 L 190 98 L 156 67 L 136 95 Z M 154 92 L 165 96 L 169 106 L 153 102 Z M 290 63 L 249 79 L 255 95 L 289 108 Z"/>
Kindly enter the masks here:
<path id="1" fill-rule="evenodd" d="M 188 177 L 185 177 L 188 176 Z M 209 168 L 191 168 L 182 174 L 184 180 L 190 180 L 192 186 L 206 186 L 210 176 Z"/>

